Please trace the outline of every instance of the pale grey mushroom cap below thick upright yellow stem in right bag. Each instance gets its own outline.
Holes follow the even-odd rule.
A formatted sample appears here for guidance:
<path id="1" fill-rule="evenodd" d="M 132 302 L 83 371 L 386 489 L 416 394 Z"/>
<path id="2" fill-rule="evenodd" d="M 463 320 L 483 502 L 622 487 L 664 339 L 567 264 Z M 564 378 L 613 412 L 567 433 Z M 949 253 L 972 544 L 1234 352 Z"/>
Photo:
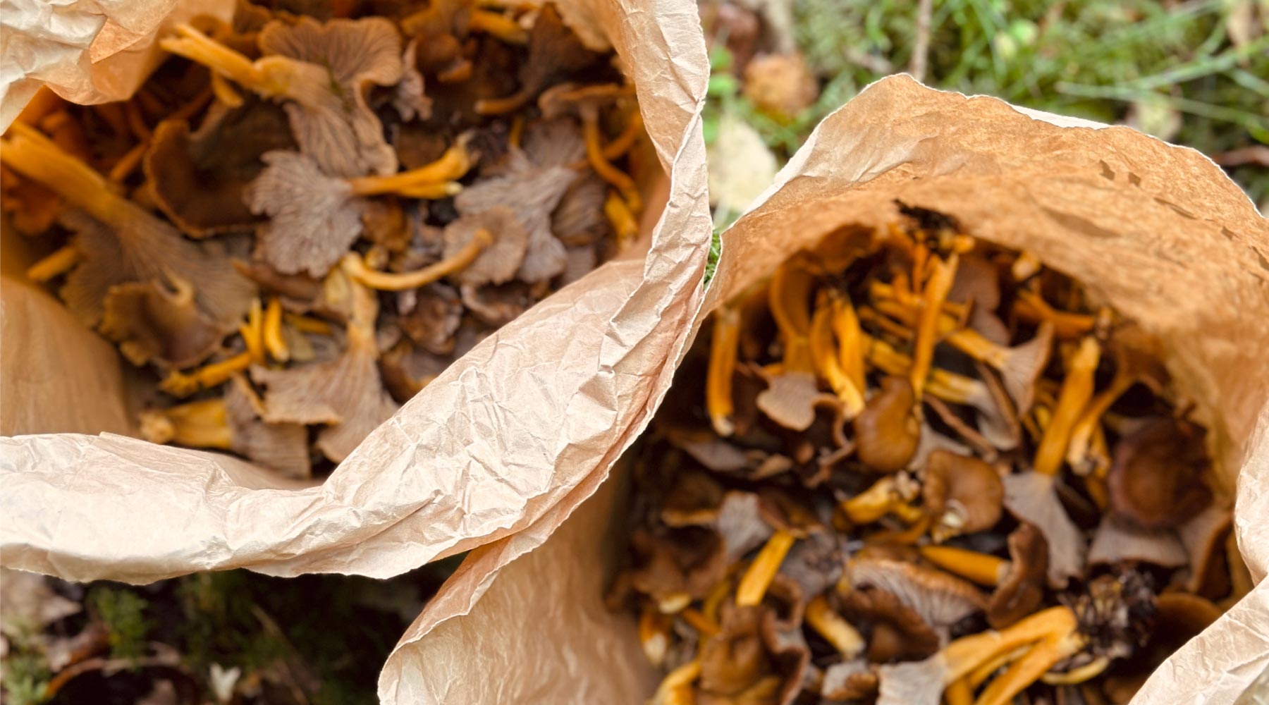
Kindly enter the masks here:
<path id="1" fill-rule="evenodd" d="M 1048 585 L 1065 587 L 1070 578 L 1082 576 L 1088 541 L 1057 498 L 1055 478 L 1025 472 L 1008 474 L 1001 482 L 1009 514 L 1019 521 L 1034 524 L 1044 535 L 1048 544 Z"/>

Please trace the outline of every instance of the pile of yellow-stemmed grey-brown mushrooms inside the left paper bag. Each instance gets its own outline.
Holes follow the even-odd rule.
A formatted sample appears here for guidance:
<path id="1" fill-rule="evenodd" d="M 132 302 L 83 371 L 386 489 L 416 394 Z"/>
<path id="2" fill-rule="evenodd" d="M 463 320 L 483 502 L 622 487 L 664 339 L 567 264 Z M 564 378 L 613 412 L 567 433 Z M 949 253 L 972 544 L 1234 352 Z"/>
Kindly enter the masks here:
<path id="1" fill-rule="evenodd" d="M 633 241 L 643 129 L 552 5 L 284 6 L 178 25 L 128 101 L 42 91 L 0 208 L 142 370 L 145 437 L 310 477 Z"/>

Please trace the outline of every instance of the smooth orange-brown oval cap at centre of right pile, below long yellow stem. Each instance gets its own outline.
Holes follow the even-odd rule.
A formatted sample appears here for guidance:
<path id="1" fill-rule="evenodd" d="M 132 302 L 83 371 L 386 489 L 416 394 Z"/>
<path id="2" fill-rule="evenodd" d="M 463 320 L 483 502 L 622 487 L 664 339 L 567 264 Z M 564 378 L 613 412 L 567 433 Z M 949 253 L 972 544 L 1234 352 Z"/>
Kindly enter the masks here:
<path id="1" fill-rule="evenodd" d="M 915 403 L 907 379 L 881 380 L 881 391 L 854 420 L 855 454 L 864 465 L 878 473 L 893 473 L 907 465 L 921 436 L 921 425 L 912 413 Z"/>

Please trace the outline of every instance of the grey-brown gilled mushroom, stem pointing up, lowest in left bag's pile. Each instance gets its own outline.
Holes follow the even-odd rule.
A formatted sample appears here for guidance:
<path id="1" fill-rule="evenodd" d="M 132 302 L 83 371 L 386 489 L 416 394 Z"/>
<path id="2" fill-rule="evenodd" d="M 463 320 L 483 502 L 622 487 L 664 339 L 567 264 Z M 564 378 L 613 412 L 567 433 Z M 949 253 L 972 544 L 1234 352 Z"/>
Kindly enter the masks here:
<path id="1" fill-rule="evenodd" d="M 379 378 L 379 349 L 374 341 L 378 302 L 358 284 L 352 284 L 352 289 L 353 309 L 343 355 L 283 370 L 263 366 L 251 370 L 251 379 L 268 388 L 265 421 L 325 424 L 316 446 L 336 463 L 397 408 Z"/>

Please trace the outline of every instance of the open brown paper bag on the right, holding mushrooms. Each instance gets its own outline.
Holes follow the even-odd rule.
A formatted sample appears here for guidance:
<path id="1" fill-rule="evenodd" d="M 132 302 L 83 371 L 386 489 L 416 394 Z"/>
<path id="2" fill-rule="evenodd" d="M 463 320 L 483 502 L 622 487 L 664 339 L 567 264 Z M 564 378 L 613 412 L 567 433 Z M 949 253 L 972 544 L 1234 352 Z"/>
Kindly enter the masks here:
<path id="1" fill-rule="evenodd" d="M 723 235 L 693 335 L 717 303 L 838 227 L 893 222 L 896 198 L 1034 251 L 1166 345 L 1169 370 L 1213 431 L 1221 489 L 1236 495 L 1239 545 L 1260 585 L 1133 702 L 1232 702 L 1269 663 L 1269 223 L 1193 150 L 896 76 L 826 118 Z M 657 678 L 633 618 L 602 605 L 604 571 L 624 550 L 605 526 L 619 529 L 624 511 L 613 483 L 582 505 L 600 482 L 471 553 L 390 657 L 383 702 L 633 705 L 651 695 Z M 570 503 L 581 508 L 563 521 Z"/>

